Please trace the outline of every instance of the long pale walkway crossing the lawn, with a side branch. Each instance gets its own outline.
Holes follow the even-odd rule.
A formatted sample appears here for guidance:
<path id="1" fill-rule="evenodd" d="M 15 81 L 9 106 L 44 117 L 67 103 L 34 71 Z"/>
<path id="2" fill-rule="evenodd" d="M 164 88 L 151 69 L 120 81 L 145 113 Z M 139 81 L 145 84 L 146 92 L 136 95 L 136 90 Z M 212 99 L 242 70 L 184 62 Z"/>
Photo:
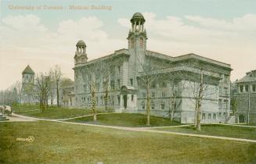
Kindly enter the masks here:
<path id="1" fill-rule="evenodd" d="M 107 114 L 107 113 L 100 113 L 100 114 Z M 68 124 L 90 126 L 90 127 L 111 128 L 111 129 L 117 129 L 117 130 L 149 132 L 149 133 L 154 133 L 154 134 L 172 134 L 172 135 L 179 135 L 179 136 L 186 136 L 186 137 L 202 137 L 202 138 L 212 138 L 212 139 L 219 139 L 219 140 L 243 141 L 243 142 L 256 143 L 256 140 L 242 139 L 242 138 L 235 138 L 235 137 L 219 137 L 219 136 L 202 135 L 202 134 L 186 134 L 186 133 L 171 132 L 171 131 L 151 130 L 154 128 L 162 128 L 162 127 L 117 127 L 117 126 L 96 125 L 96 124 L 89 124 L 89 123 L 72 123 L 72 122 L 63 121 L 63 119 L 38 119 L 38 118 L 34 118 L 34 117 L 29 117 L 29 116 L 21 116 L 16 113 L 13 113 L 13 116 L 18 117 L 20 119 L 27 119 L 27 120 L 31 120 L 31 121 L 44 120 L 44 121 L 68 123 Z M 170 126 L 170 127 L 185 127 L 185 126 L 191 126 L 191 125 Z"/>

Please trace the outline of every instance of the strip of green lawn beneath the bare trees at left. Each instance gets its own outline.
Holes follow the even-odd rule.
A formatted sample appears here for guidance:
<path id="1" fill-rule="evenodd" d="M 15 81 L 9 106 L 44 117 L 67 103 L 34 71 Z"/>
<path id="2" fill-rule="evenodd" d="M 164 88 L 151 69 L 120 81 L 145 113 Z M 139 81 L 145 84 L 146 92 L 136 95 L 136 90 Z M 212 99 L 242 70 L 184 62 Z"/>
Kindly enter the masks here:
<path id="1" fill-rule="evenodd" d="M 90 109 L 67 109 L 56 107 L 49 107 L 49 109 L 46 109 L 45 112 L 41 112 L 41 110 L 38 110 L 38 107 L 36 106 L 23 107 L 21 109 L 14 108 L 13 111 L 23 116 L 32 116 L 45 119 L 67 119 L 70 117 L 92 114 L 92 110 Z"/>

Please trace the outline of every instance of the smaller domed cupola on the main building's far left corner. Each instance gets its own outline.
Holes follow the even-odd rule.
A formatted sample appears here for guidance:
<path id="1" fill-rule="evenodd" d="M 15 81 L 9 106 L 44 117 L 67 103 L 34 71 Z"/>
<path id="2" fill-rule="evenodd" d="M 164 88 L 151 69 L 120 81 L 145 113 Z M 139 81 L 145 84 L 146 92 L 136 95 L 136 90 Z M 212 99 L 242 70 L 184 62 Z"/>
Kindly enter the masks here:
<path id="1" fill-rule="evenodd" d="M 85 52 L 86 49 L 86 45 L 85 45 L 85 41 L 78 41 L 77 43 L 77 51 L 75 52 L 74 55 L 74 65 L 77 64 L 84 64 L 85 62 L 87 62 L 87 54 Z"/>

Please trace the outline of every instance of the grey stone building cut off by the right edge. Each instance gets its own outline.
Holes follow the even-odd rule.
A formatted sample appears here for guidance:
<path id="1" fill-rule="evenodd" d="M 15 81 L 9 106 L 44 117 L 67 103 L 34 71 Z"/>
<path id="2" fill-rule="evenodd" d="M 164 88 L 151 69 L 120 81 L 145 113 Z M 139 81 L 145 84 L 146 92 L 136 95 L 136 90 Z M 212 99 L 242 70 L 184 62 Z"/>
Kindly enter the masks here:
<path id="1" fill-rule="evenodd" d="M 233 100 L 236 102 L 236 121 L 256 123 L 256 70 L 246 73 L 245 77 L 236 81 Z"/>

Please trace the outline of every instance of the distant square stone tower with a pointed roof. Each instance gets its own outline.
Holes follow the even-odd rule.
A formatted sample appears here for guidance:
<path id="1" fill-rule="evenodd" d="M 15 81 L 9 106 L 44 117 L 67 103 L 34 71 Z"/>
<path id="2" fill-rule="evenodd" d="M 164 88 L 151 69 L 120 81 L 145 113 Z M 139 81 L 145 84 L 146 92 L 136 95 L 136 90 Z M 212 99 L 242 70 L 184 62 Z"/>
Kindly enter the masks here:
<path id="1" fill-rule="evenodd" d="M 25 70 L 22 72 L 22 87 L 21 87 L 21 100 L 22 103 L 33 102 L 33 90 L 34 90 L 34 71 L 31 66 L 27 65 Z"/>

